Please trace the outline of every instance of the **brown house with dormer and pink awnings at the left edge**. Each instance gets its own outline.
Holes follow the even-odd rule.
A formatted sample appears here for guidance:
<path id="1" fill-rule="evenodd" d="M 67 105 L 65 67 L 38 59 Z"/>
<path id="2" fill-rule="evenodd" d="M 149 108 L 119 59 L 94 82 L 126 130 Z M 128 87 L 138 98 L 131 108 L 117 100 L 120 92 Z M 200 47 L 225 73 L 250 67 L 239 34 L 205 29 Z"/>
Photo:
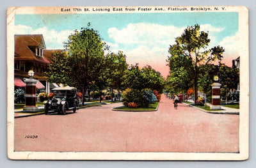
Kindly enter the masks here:
<path id="1" fill-rule="evenodd" d="M 44 56 L 45 49 L 44 37 L 42 34 L 15 35 L 15 89 L 26 86 L 23 79 L 29 77 L 29 70 L 33 70 L 33 72 L 35 72 L 33 78 L 38 80 L 36 88 L 39 91 L 49 91 L 50 84 L 47 82 L 44 72 L 47 70 L 50 59 L 49 57 Z"/>

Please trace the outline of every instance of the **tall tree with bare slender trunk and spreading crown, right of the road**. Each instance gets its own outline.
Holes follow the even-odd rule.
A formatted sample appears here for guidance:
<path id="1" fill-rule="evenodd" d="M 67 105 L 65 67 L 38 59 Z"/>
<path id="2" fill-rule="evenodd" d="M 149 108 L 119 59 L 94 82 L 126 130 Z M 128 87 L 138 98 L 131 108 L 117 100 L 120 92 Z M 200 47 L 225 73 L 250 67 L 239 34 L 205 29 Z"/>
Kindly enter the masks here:
<path id="1" fill-rule="evenodd" d="M 196 24 L 195 26 L 188 26 L 181 36 L 178 36 L 175 40 L 174 45 L 170 45 L 170 54 L 176 53 L 182 56 L 193 57 L 194 63 L 194 94 L 195 94 L 195 104 L 197 99 L 197 84 L 198 84 L 198 65 L 200 63 L 207 63 L 209 61 L 219 60 L 221 62 L 222 54 L 224 52 L 223 47 L 212 47 L 207 50 L 210 39 L 208 38 L 208 33 L 200 31 L 200 26 Z"/>

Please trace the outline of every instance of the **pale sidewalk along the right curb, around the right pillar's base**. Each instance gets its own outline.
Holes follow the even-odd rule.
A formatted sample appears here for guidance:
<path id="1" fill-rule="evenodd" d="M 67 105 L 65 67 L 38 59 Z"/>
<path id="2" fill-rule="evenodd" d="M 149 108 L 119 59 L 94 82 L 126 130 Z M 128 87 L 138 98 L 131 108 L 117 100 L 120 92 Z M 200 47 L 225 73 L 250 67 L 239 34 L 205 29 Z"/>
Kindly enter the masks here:
<path id="1" fill-rule="evenodd" d="M 188 102 L 192 102 L 193 103 L 193 100 L 188 100 Z M 212 113 L 212 114 L 239 114 L 239 109 L 224 107 L 223 105 L 221 105 L 221 111 L 206 111 L 204 109 L 195 107 L 195 106 L 193 106 L 191 104 L 187 104 L 187 103 L 184 103 L 184 104 L 189 105 L 190 107 L 199 109 L 200 111 L 204 111 L 204 112 L 208 112 L 208 113 Z M 211 106 L 210 103 L 206 103 L 206 105 Z"/>

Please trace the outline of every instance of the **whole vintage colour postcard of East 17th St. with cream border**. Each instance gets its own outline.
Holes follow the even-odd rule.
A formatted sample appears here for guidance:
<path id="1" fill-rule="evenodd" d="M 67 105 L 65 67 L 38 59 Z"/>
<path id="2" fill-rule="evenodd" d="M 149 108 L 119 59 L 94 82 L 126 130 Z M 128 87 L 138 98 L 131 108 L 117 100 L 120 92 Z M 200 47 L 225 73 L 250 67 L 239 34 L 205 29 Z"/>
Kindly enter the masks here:
<path id="1" fill-rule="evenodd" d="M 7 10 L 8 158 L 246 160 L 245 6 Z"/>

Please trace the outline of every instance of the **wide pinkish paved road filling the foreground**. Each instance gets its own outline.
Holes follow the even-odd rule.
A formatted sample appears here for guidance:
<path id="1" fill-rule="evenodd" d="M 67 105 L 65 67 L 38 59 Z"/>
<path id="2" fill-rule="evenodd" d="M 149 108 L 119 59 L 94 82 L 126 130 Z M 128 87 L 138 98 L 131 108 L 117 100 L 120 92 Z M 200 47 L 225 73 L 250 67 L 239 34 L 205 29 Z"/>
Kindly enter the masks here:
<path id="1" fill-rule="evenodd" d="M 112 111 L 121 105 L 16 118 L 15 151 L 239 152 L 239 115 L 175 110 L 165 96 L 155 112 Z"/>

